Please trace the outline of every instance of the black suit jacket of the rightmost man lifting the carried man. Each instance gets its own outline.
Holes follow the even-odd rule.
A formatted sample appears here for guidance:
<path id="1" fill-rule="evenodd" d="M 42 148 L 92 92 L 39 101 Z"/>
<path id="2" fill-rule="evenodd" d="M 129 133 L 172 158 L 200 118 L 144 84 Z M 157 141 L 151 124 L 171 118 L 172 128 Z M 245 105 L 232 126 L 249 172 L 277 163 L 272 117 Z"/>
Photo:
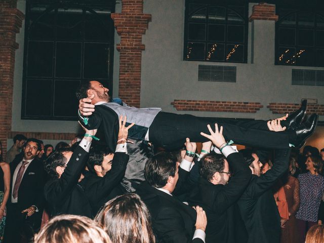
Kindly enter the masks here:
<path id="1" fill-rule="evenodd" d="M 275 150 L 271 170 L 260 177 L 252 175 L 247 189 L 239 198 L 237 204 L 249 237 L 245 239 L 241 235 L 240 242 L 279 242 L 280 216 L 271 187 L 287 171 L 289 155 L 289 149 Z"/>

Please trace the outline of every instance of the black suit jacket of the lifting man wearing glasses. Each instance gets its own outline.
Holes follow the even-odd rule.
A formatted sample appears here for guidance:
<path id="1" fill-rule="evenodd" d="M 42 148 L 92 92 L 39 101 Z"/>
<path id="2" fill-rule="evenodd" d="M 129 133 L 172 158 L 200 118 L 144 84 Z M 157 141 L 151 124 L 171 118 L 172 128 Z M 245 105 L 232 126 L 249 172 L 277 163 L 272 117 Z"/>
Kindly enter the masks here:
<path id="1" fill-rule="evenodd" d="M 228 155 L 227 161 L 234 176 L 226 185 L 214 185 L 206 179 L 199 178 L 198 185 L 189 198 L 189 205 L 199 205 L 206 212 L 208 219 L 207 243 L 235 242 L 233 238 L 235 229 L 232 205 L 245 191 L 251 178 L 251 170 L 244 163 L 240 153 L 231 153 Z"/>

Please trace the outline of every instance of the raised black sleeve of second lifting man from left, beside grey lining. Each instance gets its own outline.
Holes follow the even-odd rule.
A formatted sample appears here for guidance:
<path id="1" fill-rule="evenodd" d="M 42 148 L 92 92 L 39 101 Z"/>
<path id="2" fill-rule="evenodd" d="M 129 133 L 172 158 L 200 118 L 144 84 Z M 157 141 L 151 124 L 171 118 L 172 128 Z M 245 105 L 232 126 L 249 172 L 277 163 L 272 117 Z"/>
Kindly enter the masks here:
<path id="1" fill-rule="evenodd" d="M 126 153 L 116 152 L 114 154 L 111 170 L 107 172 L 102 180 L 92 184 L 90 190 L 87 192 L 93 201 L 99 201 L 120 183 L 125 175 L 128 160 L 129 155 Z"/>

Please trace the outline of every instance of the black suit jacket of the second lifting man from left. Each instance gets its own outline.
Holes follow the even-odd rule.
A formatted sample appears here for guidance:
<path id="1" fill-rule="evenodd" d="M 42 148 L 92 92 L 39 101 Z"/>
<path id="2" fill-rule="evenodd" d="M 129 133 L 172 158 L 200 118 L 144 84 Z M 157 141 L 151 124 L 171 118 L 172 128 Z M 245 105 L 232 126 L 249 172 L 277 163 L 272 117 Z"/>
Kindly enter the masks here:
<path id="1" fill-rule="evenodd" d="M 125 175 L 128 159 L 128 154 L 116 152 L 112 159 L 111 170 L 104 177 L 85 172 L 85 178 L 80 185 L 85 188 L 94 215 L 107 201 L 124 193 L 120 181 Z"/>

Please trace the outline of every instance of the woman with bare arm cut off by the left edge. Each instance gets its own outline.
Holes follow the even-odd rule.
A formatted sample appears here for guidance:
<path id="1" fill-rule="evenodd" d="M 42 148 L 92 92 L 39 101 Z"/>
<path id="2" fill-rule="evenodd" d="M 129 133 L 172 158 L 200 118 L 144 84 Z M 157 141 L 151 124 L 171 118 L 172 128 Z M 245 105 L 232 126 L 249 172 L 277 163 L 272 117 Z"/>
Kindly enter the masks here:
<path id="1" fill-rule="evenodd" d="M 0 142 L 0 242 L 4 239 L 6 225 L 6 205 L 10 190 L 10 166 L 2 157 L 2 143 Z"/>

